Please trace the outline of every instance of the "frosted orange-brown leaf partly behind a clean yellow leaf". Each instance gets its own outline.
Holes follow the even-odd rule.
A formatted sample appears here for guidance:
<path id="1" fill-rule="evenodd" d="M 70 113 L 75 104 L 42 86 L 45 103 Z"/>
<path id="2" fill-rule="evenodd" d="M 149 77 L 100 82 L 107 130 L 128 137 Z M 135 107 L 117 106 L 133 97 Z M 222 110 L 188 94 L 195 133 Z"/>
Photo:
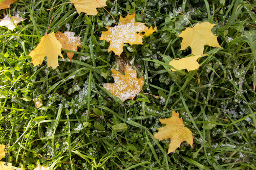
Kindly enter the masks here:
<path id="1" fill-rule="evenodd" d="M 66 50 L 73 50 L 77 52 L 77 46 L 81 47 L 80 37 L 74 36 L 75 33 L 65 31 L 64 33 L 58 32 L 55 34 L 57 40 L 62 44 L 63 49 Z M 74 56 L 74 53 L 67 52 L 67 56 L 69 57 L 70 61 Z"/>

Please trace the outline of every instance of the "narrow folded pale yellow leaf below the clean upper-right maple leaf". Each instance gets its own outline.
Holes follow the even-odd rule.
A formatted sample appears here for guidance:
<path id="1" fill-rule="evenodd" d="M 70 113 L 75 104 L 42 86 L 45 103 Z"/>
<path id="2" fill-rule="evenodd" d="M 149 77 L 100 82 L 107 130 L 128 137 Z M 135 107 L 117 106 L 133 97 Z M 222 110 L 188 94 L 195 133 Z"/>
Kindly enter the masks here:
<path id="1" fill-rule="evenodd" d="M 199 56 L 193 56 L 193 57 L 186 57 L 182 59 L 173 59 L 172 61 L 169 62 L 169 65 L 172 65 L 174 68 L 178 70 L 182 69 L 187 69 L 188 71 L 190 70 L 195 70 L 198 69 L 200 64 L 198 64 L 197 59 L 202 57 L 202 55 Z M 173 68 L 170 68 L 172 71 L 176 71 Z"/>

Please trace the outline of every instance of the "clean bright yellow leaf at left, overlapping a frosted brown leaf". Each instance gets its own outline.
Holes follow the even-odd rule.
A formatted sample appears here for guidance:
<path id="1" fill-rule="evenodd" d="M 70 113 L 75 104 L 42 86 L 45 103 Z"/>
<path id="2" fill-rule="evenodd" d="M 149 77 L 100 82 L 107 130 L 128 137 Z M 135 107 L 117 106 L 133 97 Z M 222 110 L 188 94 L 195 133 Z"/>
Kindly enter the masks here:
<path id="1" fill-rule="evenodd" d="M 55 69 L 57 66 L 59 66 L 58 56 L 60 55 L 64 60 L 61 54 L 61 47 L 62 45 L 55 37 L 54 32 L 47 34 L 41 38 L 41 41 L 37 47 L 29 53 L 29 56 L 32 57 L 31 62 L 34 64 L 34 66 L 36 66 L 41 64 L 45 59 L 45 56 L 47 56 L 47 67 L 51 66 L 53 69 Z"/>

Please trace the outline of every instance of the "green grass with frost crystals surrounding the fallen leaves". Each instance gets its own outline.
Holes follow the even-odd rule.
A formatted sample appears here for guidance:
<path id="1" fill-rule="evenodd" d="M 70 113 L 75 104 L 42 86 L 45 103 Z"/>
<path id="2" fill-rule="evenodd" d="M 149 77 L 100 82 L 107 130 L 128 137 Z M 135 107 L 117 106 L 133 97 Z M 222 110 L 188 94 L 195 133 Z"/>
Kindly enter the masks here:
<path id="1" fill-rule="evenodd" d="M 123 54 L 141 66 L 141 92 L 159 98 L 143 94 L 123 104 L 102 88 L 114 82 L 115 56 L 99 37 L 114 19 L 102 8 L 96 16 L 78 15 L 73 4 L 47 10 L 65 2 L 17 1 L 10 13 L 27 19 L 14 31 L 0 28 L 1 143 L 9 143 L 13 168 L 256 169 L 255 1 L 108 1 L 117 22 L 136 12 L 137 21 L 158 27 L 143 45 L 124 46 Z M 205 46 L 208 56 L 200 58 L 198 70 L 172 72 L 166 64 L 191 53 L 180 51 L 177 36 L 191 26 L 179 11 L 193 25 L 216 24 L 212 32 L 223 49 Z M 47 61 L 34 67 L 27 56 L 48 26 L 48 33 L 75 32 L 82 42 L 71 61 L 63 50 L 65 60 L 59 57 L 54 70 Z M 43 105 L 36 109 L 38 98 Z M 192 150 L 183 142 L 167 155 L 170 141 L 153 135 L 162 127 L 159 118 L 172 111 L 195 138 Z M 2 133 L 5 114 L 8 138 Z"/>

